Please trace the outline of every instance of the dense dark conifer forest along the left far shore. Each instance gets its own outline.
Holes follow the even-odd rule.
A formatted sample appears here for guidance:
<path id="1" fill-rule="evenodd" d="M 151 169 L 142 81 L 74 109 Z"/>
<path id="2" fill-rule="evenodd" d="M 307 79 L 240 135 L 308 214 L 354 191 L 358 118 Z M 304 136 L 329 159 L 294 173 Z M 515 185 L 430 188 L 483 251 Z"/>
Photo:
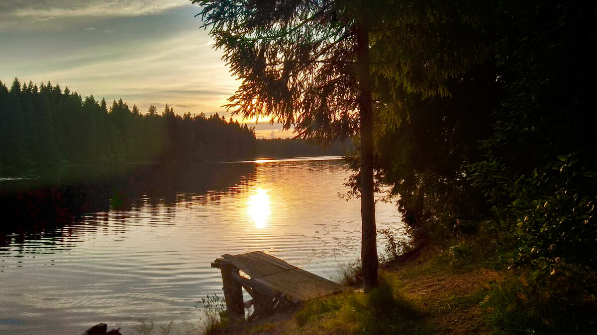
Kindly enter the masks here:
<path id="1" fill-rule="evenodd" d="M 121 100 L 106 106 L 50 82 L 0 82 L 0 166 L 251 159 L 253 128 L 217 113 L 146 114 Z"/>

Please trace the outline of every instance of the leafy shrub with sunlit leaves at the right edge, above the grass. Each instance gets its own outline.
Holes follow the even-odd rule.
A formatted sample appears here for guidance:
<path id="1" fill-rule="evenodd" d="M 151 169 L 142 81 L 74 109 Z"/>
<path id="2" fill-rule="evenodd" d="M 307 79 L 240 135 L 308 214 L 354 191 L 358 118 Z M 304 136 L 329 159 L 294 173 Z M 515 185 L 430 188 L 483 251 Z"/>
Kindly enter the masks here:
<path id="1" fill-rule="evenodd" d="M 516 243 L 513 265 L 532 265 L 544 277 L 564 263 L 597 269 L 597 177 L 576 155 L 559 156 L 488 192 L 501 207 L 501 229 Z M 500 198 L 510 204 L 500 205 Z"/>

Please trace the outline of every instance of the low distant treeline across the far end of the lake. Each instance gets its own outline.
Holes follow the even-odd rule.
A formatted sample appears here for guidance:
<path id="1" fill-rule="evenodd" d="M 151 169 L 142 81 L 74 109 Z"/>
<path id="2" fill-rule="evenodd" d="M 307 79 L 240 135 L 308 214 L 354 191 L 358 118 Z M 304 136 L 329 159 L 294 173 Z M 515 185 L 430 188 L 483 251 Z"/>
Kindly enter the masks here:
<path id="1" fill-rule="evenodd" d="M 326 147 L 304 139 L 257 139 L 256 157 L 343 156 L 353 150 L 352 140 L 335 141 Z"/>

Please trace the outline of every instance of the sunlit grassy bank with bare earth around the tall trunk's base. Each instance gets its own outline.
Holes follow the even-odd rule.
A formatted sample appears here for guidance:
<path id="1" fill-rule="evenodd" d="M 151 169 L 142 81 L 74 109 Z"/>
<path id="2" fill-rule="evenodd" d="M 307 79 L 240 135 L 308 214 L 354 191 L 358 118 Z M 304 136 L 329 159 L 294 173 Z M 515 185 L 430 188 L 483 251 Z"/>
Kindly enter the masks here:
<path id="1" fill-rule="evenodd" d="M 465 243 L 464 241 L 462 243 Z M 454 243 L 457 244 L 457 243 Z M 460 247 L 466 250 L 468 247 Z M 491 270 L 479 270 L 470 253 L 430 246 L 415 259 L 383 266 L 379 289 L 347 289 L 311 300 L 285 318 L 260 324 L 229 325 L 221 333 L 436 334 L 489 333 L 480 304 L 487 299 Z M 357 280 L 358 263 L 343 268 L 344 283 Z"/>

